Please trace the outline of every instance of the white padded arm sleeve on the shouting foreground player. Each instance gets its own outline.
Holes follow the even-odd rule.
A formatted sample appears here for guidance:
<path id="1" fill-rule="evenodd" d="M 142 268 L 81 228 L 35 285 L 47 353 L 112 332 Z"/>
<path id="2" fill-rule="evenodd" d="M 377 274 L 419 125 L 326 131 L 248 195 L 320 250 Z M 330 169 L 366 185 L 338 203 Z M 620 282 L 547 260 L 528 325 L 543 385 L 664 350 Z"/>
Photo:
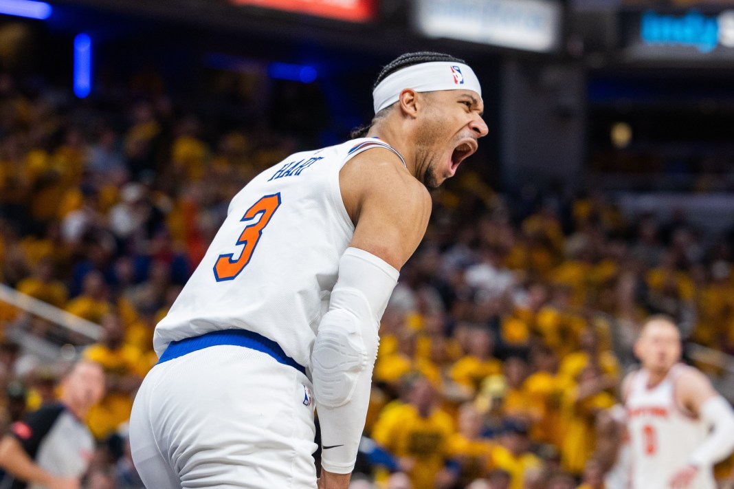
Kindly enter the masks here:
<path id="1" fill-rule="evenodd" d="M 398 271 L 364 250 L 347 248 L 329 312 L 311 354 L 314 399 L 321 424 L 321 466 L 349 474 L 357 460 L 379 344 L 379 320 Z"/>

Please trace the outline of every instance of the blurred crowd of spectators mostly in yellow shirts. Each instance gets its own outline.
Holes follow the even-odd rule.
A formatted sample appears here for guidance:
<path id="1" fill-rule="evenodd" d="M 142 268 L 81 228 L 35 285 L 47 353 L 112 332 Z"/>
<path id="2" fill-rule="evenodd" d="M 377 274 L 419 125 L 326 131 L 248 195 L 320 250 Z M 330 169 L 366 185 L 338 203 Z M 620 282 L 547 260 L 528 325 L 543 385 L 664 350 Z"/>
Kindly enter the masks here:
<path id="1" fill-rule="evenodd" d="M 98 341 L 0 302 L 0 424 L 57 396 L 19 328 L 101 363 L 87 489 L 142 488 L 126 421 L 152 332 L 247 181 L 302 145 L 213 131 L 166 95 L 77 101 L 0 76 L 0 282 L 102 327 Z M 602 488 L 597 414 L 618 399 L 649 314 L 734 352 L 729 233 L 683 214 L 625 219 L 600 192 L 498 193 L 470 160 L 382 320 L 354 488 Z M 698 365 L 712 376 L 718 367 Z M 317 455 L 318 457 L 318 455 Z"/>

